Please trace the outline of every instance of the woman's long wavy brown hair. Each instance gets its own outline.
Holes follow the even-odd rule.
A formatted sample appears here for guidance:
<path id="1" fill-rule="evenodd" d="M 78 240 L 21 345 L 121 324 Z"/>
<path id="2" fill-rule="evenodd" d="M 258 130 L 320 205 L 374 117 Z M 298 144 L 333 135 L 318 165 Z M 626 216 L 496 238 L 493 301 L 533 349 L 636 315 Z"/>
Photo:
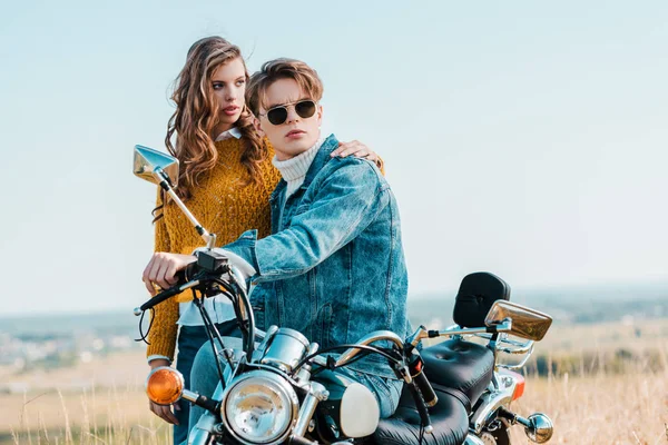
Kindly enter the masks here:
<path id="1" fill-rule="evenodd" d="M 191 189 L 197 187 L 203 174 L 210 171 L 218 162 L 218 151 L 212 132 L 219 120 L 220 107 L 214 96 L 210 78 L 222 65 L 239 59 L 244 63 L 246 81 L 249 80 L 242 51 L 235 44 L 218 36 L 206 37 L 193 43 L 188 50 L 186 65 L 175 80 L 176 88 L 171 100 L 176 111 L 167 123 L 165 145 L 167 150 L 179 160 L 179 198 L 187 200 Z M 249 175 L 250 182 L 262 181 L 259 164 L 267 156 L 267 147 L 253 126 L 253 115 L 246 105 L 235 125 L 245 139 L 246 148 L 242 155 L 242 165 Z M 176 147 L 171 144 L 176 132 Z M 163 202 L 166 196 L 163 192 Z M 154 210 L 156 216 L 157 210 Z M 161 215 L 156 216 L 156 220 Z"/>

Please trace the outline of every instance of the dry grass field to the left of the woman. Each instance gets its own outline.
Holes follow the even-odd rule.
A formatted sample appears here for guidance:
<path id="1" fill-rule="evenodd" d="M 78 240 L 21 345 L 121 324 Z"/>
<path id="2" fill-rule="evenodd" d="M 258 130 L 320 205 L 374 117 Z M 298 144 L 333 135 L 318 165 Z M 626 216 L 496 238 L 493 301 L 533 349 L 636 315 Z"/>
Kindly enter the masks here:
<path id="1" fill-rule="evenodd" d="M 137 350 L 73 368 L 0 372 L 3 382 L 31 388 L 0 394 L 0 444 L 168 443 L 167 424 L 148 411 L 141 390 L 147 369 Z"/>

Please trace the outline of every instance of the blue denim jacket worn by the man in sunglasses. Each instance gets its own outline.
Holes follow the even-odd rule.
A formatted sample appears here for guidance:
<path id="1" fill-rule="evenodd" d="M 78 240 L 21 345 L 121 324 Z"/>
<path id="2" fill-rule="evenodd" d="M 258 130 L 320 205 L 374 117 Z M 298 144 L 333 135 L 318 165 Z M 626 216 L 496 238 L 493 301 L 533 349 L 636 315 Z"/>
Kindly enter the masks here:
<path id="1" fill-rule="evenodd" d="M 332 158 L 332 135 L 287 200 L 282 180 L 271 198 L 272 234 L 255 230 L 223 248 L 255 267 L 250 295 L 257 326 L 289 327 L 321 349 L 387 329 L 407 335 L 407 274 L 399 210 L 370 161 Z M 394 377 L 372 354 L 350 368 Z"/>

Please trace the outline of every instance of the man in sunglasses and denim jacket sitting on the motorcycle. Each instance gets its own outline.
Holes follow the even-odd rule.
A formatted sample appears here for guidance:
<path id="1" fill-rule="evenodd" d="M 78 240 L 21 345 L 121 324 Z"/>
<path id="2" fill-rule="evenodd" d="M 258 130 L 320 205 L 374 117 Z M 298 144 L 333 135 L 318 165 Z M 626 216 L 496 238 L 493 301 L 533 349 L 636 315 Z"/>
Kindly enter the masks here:
<path id="1" fill-rule="evenodd" d="M 332 157 L 338 142 L 321 137 L 322 95 L 316 71 L 302 61 L 272 60 L 252 77 L 247 103 L 283 180 L 271 198 L 273 235 L 256 239 L 255 230 L 246 231 L 223 251 L 254 269 L 250 300 L 259 328 L 289 327 L 321 348 L 377 329 L 405 337 L 407 275 L 396 201 L 374 164 Z M 341 372 L 372 390 L 381 417 L 396 409 L 402 383 L 385 358 L 370 355 Z M 196 359 L 193 388 L 215 387 L 217 374 L 209 374 Z"/>

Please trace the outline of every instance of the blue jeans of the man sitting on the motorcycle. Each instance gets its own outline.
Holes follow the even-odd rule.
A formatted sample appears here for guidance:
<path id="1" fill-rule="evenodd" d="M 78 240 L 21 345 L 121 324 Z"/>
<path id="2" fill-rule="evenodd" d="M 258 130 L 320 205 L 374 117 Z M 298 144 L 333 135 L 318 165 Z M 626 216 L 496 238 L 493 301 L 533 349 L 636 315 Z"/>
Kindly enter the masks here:
<path id="1" fill-rule="evenodd" d="M 225 363 L 220 363 L 220 367 L 224 368 Z M 361 373 L 357 370 L 341 368 L 336 369 L 336 373 L 343 374 L 344 376 L 361 383 L 366 386 L 375 396 L 379 407 L 381 411 L 381 418 L 390 417 L 396 411 L 399 406 L 399 398 L 403 387 L 403 382 L 379 377 L 376 375 Z M 193 372 L 190 375 L 190 382 L 193 383 L 193 390 L 212 396 L 218 385 L 218 370 L 216 362 L 210 347 L 205 345 L 197 353 Z M 193 406 L 190 409 L 190 427 L 197 424 L 199 417 L 204 414 L 204 408 Z"/>

